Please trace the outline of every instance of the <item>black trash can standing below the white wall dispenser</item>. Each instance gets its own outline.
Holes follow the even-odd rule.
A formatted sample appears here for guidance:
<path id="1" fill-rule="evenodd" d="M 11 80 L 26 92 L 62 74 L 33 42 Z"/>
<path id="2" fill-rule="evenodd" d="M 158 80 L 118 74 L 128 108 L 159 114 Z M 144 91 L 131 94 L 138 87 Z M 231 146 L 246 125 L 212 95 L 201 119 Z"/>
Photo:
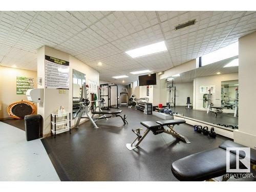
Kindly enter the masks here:
<path id="1" fill-rule="evenodd" d="M 25 131 L 27 141 L 39 139 L 41 116 L 40 115 L 26 115 L 25 120 Z"/>

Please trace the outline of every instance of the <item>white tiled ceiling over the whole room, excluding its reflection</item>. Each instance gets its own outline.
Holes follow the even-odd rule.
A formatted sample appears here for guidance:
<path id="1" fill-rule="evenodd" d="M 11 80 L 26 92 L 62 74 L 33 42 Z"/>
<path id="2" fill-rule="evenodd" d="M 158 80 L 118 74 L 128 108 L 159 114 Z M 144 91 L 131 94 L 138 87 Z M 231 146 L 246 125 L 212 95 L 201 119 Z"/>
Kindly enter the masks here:
<path id="1" fill-rule="evenodd" d="M 194 26 L 174 30 L 191 19 Z M 127 83 L 137 80 L 132 71 L 164 71 L 255 30 L 255 11 L 0 12 L 0 65 L 36 70 L 36 50 L 47 45 L 87 63 L 100 80 L 128 75 Z M 167 52 L 140 58 L 124 53 L 162 40 Z"/>

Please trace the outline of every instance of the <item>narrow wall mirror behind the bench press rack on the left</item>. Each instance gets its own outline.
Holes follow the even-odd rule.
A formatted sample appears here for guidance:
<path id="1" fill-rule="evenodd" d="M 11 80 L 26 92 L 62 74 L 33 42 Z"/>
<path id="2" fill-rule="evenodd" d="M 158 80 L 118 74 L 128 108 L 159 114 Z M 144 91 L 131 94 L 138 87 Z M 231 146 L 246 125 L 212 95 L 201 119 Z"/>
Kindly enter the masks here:
<path id="1" fill-rule="evenodd" d="M 81 87 L 86 82 L 86 74 L 73 69 L 73 119 L 77 117 L 77 111 L 80 108 Z"/>

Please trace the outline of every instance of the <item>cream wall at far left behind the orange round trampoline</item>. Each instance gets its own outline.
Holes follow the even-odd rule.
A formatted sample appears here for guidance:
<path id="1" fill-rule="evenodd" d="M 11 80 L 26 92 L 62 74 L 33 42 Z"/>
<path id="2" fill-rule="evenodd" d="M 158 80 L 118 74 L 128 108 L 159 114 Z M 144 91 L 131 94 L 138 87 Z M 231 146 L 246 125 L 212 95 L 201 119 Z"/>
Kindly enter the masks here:
<path id="1" fill-rule="evenodd" d="M 0 66 L 0 118 L 8 118 L 7 106 L 13 102 L 28 100 L 26 95 L 16 94 L 17 76 L 34 78 L 36 88 L 36 71 Z"/>

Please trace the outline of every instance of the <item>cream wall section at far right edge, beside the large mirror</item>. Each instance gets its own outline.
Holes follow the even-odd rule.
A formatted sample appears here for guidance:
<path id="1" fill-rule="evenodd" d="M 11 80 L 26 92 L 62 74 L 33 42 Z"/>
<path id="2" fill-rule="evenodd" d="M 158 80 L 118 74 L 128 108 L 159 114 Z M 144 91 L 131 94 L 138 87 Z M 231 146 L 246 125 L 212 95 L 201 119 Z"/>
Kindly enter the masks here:
<path id="1" fill-rule="evenodd" d="M 239 39 L 239 130 L 234 141 L 256 147 L 256 32 Z"/>

